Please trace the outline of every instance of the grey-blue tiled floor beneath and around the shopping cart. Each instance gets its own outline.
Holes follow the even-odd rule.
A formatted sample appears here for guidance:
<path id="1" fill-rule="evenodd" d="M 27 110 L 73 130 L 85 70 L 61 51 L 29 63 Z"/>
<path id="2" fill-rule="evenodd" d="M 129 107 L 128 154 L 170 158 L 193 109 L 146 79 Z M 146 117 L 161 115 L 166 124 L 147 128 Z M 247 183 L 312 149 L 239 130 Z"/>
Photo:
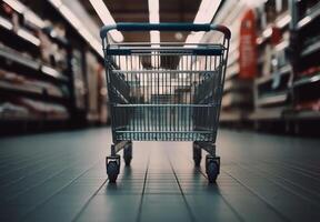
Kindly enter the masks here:
<path id="1" fill-rule="evenodd" d="M 106 180 L 109 129 L 0 140 L 0 221 L 320 221 L 320 140 L 220 131 L 209 185 L 191 144 L 136 142 Z"/>

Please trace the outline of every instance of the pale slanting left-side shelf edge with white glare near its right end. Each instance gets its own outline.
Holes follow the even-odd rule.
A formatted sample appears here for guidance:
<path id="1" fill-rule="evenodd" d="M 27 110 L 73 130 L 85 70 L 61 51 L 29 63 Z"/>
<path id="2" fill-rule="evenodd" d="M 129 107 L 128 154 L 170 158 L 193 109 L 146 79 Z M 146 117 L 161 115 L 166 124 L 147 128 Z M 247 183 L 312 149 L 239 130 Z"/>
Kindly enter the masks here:
<path id="1" fill-rule="evenodd" d="M 56 69 L 48 67 L 46 64 L 41 64 L 41 62 L 33 61 L 30 58 L 23 57 L 4 48 L 0 48 L 0 58 L 3 58 L 6 60 L 9 60 L 10 62 L 14 62 L 19 65 L 23 65 L 24 68 L 33 70 L 33 72 L 37 73 L 37 77 L 39 78 L 46 75 L 43 78 L 50 78 L 56 81 L 62 81 L 62 82 L 68 81 L 68 78 L 61 74 Z"/>

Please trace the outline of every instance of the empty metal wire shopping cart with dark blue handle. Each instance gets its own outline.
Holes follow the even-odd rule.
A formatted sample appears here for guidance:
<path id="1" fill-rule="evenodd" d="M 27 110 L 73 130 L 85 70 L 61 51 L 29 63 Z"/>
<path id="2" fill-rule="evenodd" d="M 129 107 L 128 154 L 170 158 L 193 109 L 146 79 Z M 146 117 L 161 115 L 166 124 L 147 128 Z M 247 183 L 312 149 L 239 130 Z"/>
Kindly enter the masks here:
<path id="1" fill-rule="evenodd" d="M 218 31 L 220 43 L 111 43 L 118 31 Z M 220 171 L 216 137 L 231 33 L 228 28 L 193 23 L 117 23 L 101 29 L 110 98 L 111 155 L 107 174 L 116 182 L 120 155 L 127 165 L 132 141 L 193 141 L 193 160 L 206 157 L 209 182 Z"/>

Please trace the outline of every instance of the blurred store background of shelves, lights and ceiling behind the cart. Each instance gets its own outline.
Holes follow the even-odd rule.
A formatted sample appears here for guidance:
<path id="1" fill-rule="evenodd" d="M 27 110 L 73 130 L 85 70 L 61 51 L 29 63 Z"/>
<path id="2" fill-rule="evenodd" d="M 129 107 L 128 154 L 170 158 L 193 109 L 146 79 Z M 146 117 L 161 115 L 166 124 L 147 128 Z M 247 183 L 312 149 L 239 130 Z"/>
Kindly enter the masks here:
<path id="1" fill-rule="evenodd" d="M 319 0 L 1 0 L 0 134 L 110 123 L 99 30 L 114 22 L 221 23 L 232 31 L 220 122 L 314 133 Z M 214 33 L 110 33 L 212 42 Z"/>

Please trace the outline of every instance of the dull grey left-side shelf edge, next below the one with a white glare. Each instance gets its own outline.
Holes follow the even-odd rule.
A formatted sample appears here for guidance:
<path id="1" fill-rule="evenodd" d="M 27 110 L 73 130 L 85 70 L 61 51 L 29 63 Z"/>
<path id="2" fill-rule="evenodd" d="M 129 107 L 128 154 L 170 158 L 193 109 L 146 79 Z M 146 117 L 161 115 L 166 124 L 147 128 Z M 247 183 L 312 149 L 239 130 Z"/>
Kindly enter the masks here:
<path id="1" fill-rule="evenodd" d="M 30 97 L 37 100 L 42 101 L 52 101 L 52 102 L 59 102 L 59 103 L 67 103 L 68 98 L 60 97 L 60 95 L 53 95 L 49 94 L 46 89 L 40 88 L 30 88 L 30 85 L 19 85 L 19 84 L 12 84 L 9 82 L 0 81 L 0 92 L 1 93 L 8 93 L 8 94 L 19 94 L 24 97 Z"/>

